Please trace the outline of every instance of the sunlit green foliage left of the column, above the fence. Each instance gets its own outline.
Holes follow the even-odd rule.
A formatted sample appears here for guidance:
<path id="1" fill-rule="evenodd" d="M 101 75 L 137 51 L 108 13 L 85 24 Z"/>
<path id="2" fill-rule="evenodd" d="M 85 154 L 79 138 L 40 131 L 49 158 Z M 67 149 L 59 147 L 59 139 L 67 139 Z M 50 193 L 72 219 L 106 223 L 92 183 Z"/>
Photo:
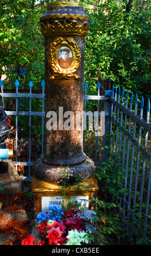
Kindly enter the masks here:
<path id="1" fill-rule="evenodd" d="M 33 1 L 34 2 L 34 1 Z M 20 66 L 27 67 L 26 82 L 43 79 L 44 74 L 44 40 L 40 29 L 40 16 L 45 13 L 45 3 L 32 5 L 30 1 L 1 1 L 0 10 L 0 51 L 1 75 L 12 74 L 17 78 L 16 71 Z M 5 70 L 2 69 L 5 67 Z M 20 78 L 18 77 L 20 80 Z M 41 81 L 42 81 L 41 79 Z"/>

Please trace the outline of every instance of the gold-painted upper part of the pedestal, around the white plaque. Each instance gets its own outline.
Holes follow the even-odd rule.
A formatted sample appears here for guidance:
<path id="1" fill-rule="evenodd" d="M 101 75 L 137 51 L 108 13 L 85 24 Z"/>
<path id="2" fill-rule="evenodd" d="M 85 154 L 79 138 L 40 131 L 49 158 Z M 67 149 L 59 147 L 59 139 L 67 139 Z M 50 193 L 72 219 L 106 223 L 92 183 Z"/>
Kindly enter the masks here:
<path id="1" fill-rule="evenodd" d="M 71 197 L 86 197 L 91 200 L 92 197 L 97 197 L 98 181 L 96 178 L 91 178 L 80 184 L 70 185 L 66 187 L 65 202 L 70 202 Z M 46 197 L 63 197 L 64 188 L 60 185 L 50 184 L 45 181 L 40 181 L 35 178 L 32 180 L 32 192 L 34 194 L 34 215 L 42 212 L 42 199 Z M 89 202 L 89 209 L 92 208 L 92 203 Z"/>

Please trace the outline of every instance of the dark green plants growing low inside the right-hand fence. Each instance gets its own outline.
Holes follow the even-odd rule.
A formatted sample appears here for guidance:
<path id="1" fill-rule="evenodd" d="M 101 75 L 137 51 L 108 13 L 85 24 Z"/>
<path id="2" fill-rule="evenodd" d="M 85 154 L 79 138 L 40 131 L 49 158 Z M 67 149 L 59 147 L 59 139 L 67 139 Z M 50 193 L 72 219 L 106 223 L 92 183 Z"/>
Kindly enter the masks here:
<path id="1" fill-rule="evenodd" d="M 111 142 L 114 134 L 110 136 L 107 134 L 107 137 Z M 105 148 L 110 152 L 110 146 L 105 146 Z M 100 150 L 103 150 L 103 147 Z M 125 179 L 121 155 L 121 151 L 118 151 L 116 156 L 109 154 L 103 166 L 97 167 L 95 172 L 99 182 L 99 196 L 92 200 L 95 203 L 95 212 L 99 220 L 96 232 L 100 245 L 129 244 L 128 233 L 121 219 L 123 209 L 119 206 L 121 188 Z"/>

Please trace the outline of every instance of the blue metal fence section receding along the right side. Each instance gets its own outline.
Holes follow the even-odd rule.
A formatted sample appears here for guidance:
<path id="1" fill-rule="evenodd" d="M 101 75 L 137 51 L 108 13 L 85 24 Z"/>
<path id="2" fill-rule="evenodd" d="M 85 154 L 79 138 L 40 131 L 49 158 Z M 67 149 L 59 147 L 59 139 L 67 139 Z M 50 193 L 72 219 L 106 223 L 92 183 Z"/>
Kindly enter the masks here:
<path id="1" fill-rule="evenodd" d="M 115 157 L 120 155 L 124 174 L 120 200 L 123 209 L 122 218 L 131 242 L 134 241 L 134 237 L 137 241 L 141 241 L 146 239 L 150 223 L 150 101 L 148 100 L 144 113 L 143 97 L 138 111 L 137 94 L 133 101 L 133 93 L 129 99 L 127 91 L 124 105 L 124 90 L 122 95 L 120 87 L 118 93 L 117 88 L 115 90 L 113 88 L 112 92 L 113 96 L 108 97 L 108 108 L 111 107 L 109 132 L 114 130 L 111 155 Z M 146 115 L 146 120 L 143 114 Z M 118 173 L 118 166 L 116 172 Z"/>

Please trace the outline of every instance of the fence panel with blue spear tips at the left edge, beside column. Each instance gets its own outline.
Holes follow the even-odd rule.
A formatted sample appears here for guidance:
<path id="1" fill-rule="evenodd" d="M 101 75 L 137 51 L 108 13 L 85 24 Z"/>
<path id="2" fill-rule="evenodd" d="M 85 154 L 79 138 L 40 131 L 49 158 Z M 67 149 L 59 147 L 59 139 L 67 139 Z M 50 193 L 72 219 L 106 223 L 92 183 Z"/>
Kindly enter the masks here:
<path id="1" fill-rule="evenodd" d="M 44 141 L 44 117 L 45 117 L 45 111 L 44 111 L 44 101 L 45 101 L 45 82 L 42 81 L 41 83 L 41 88 L 42 88 L 42 92 L 41 93 L 33 93 L 32 92 L 32 87 L 33 87 L 33 82 L 31 81 L 29 83 L 29 90 L 25 90 L 25 89 L 18 89 L 19 86 L 19 82 L 18 80 L 15 81 L 15 87 L 16 87 L 16 92 L 15 93 L 4 93 L 3 90 L 3 82 L 2 80 L 0 80 L 0 86 L 1 86 L 1 93 L 0 95 L 3 97 L 3 101 L 5 102 L 5 99 L 11 98 L 14 99 L 15 101 L 15 109 L 14 111 L 10 111 L 5 109 L 5 113 L 8 115 L 8 117 L 15 117 L 15 129 L 14 129 L 14 138 L 11 138 L 14 140 L 15 143 L 12 144 L 12 148 L 15 151 L 15 161 L 13 162 L 14 166 L 16 166 L 16 170 L 18 166 L 27 166 L 28 167 L 28 179 L 31 180 L 32 176 L 30 173 L 30 168 L 31 166 L 33 166 L 33 161 L 31 160 L 31 154 L 32 154 L 32 143 L 31 143 L 31 138 L 32 138 L 32 133 L 31 133 L 31 129 L 32 129 L 32 117 L 41 117 L 40 123 L 38 124 L 39 126 L 42 127 L 41 130 L 41 154 L 43 154 L 43 141 Z M 20 93 L 23 90 L 25 90 L 25 93 Z M 27 93 L 29 91 L 29 93 Z M 27 101 L 28 99 L 28 101 Z M 42 104 L 41 104 L 41 111 L 32 111 L 32 100 L 37 99 L 37 100 L 42 100 Z M 20 102 L 21 100 L 21 102 Z M 35 103 L 35 102 L 34 102 Z M 9 109 L 12 108 L 12 104 L 11 102 L 8 102 L 8 107 Z M 25 109 L 25 110 L 23 110 Z M 27 111 L 28 109 L 28 111 Z M 35 107 L 34 107 L 35 109 Z M 27 118 L 25 125 L 28 125 L 26 127 L 23 127 L 23 129 L 21 129 L 21 127 L 18 127 L 18 118 Z M 20 126 L 22 124 L 22 121 L 20 122 Z M 18 137 L 18 130 L 20 131 L 20 137 Z M 22 133 L 23 131 L 26 131 L 27 134 L 27 140 L 28 140 L 28 150 L 27 147 L 25 148 L 25 151 L 28 151 L 28 156 L 26 155 L 26 157 L 24 156 L 20 156 L 18 157 L 18 142 L 20 141 L 20 139 L 22 138 Z M 34 136 L 35 138 L 35 136 Z M 9 143 L 9 140 L 8 140 Z M 26 160 L 22 160 L 22 161 L 18 161 L 18 158 L 20 159 L 26 159 Z"/>

